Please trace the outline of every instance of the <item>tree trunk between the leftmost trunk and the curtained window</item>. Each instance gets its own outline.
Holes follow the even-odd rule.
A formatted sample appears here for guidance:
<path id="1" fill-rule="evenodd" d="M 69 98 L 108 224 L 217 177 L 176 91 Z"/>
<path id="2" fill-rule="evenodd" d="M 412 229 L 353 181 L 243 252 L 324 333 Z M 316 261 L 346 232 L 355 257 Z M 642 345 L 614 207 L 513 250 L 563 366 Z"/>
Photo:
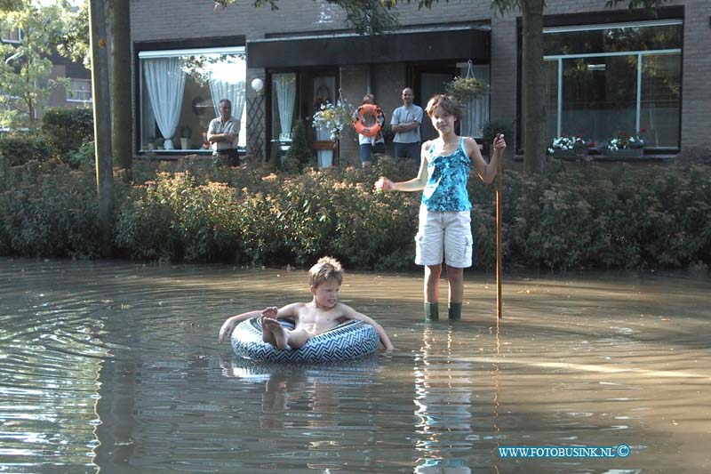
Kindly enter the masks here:
<path id="1" fill-rule="evenodd" d="M 133 161 L 131 120 L 131 25 L 129 0 L 112 0 L 111 4 L 111 125 L 114 159 L 131 179 Z"/>

